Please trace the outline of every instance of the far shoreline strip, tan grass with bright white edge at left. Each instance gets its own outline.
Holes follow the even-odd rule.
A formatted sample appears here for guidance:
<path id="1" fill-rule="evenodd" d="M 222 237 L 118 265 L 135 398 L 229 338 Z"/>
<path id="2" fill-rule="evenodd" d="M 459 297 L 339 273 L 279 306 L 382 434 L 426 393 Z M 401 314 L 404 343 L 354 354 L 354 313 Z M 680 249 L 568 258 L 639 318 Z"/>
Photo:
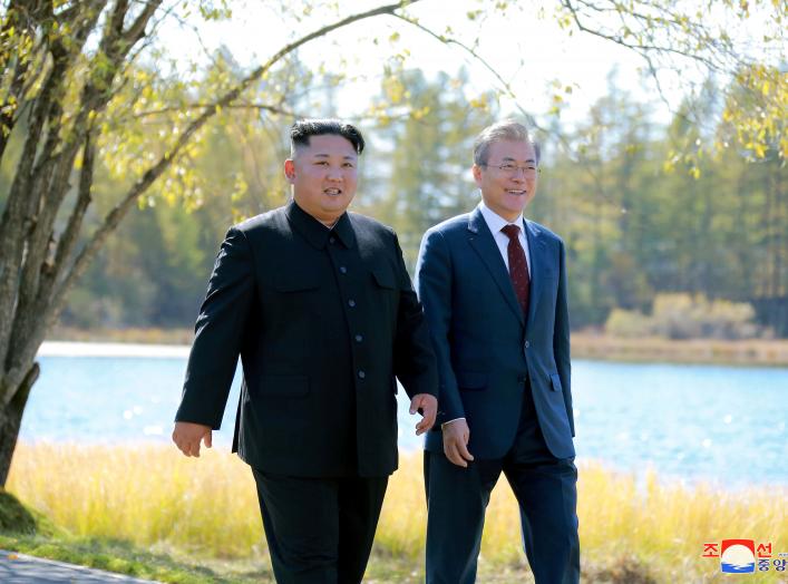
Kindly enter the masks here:
<path id="1" fill-rule="evenodd" d="M 134 329 L 56 334 L 37 357 L 187 358 L 192 332 Z M 572 358 L 643 363 L 788 367 L 788 340 L 623 339 L 604 334 L 572 334 Z"/>

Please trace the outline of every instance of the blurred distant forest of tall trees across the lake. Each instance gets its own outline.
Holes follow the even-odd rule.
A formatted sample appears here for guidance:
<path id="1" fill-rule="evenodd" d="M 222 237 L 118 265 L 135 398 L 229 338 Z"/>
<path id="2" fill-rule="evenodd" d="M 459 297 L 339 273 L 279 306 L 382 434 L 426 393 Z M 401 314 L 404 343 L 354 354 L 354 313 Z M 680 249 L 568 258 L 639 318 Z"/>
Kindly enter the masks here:
<path id="1" fill-rule="evenodd" d="M 412 269 L 424 232 L 478 201 L 473 139 L 508 113 L 492 93 L 469 98 L 463 71 L 427 78 L 410 70 L 399 84 L 385 85 L 357 119 L 368 149 L 351 208 L 392 225 Z M 777 148 L 750 160 L 733 148 L 706 152 L 700 145 L 724 143 L 731 132 L 711 82 L 668 125 L 613 74 L 609 84 L 585 123 L 564 127 L 557 107 L 535 129 L 542 175 L 526 216 L 566 242 L 573 327 L 604 325 L 614 309 L 649 313 L 658 294 L 681 292 L 748 303 L 759 324 L 788 335 L 788 197 Z M 397 93 L 408 98 L 401 115 L 371 114 Z M 319 96 L 292 110 L 329 115 L 338 94 L 328 84 Z M 706 123 L 687 121 L 690 110 Z M 253 108 L 218 116 L 191 154 L 191 172 L 155 185 L 110 239 L 70 293 L 61 323 L 192 327 L 226 228 L 289 197 L 281 168 L 292 119 L 272 119 Z M 95 213 L 106 211 L 100 201 L 110 197 L 100 193 L 117 188 L 121 175 L 97 172 Z"/>

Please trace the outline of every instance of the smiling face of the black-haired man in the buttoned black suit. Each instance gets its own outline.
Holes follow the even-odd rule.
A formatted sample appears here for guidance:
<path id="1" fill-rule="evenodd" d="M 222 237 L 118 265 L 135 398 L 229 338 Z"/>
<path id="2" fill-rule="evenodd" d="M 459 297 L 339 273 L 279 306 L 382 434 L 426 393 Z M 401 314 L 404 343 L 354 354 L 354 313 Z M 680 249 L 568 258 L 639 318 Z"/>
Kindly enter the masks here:
<path id="1" fill-rule="evenodd" d="M 284 162 L 295 203 L 318 221 L 332 225 L 356 195 L 358 154 L 342 136 L 312 136 Z"/>

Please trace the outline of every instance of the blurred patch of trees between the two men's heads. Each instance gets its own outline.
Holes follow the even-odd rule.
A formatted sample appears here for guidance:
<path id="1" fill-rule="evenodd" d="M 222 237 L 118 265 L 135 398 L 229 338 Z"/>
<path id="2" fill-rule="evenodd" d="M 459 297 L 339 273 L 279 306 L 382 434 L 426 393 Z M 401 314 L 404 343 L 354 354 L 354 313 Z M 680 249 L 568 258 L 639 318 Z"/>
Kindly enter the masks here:
<path id="1" fill-rule="evenodd" d="M 425 231 L 478 202 L 473 142 L 495 119 L 497 100 L 492 91 L 468 94 L 464 69 L 434 79 L 401 70 L 385 77 L 370 108 L 378 116 L 373 134 L 386 146 L 369 154 L 374 176 L 364 184 L 373 189 L 362 193 L 358 208 L 396 228 L 411 266 Z"/>

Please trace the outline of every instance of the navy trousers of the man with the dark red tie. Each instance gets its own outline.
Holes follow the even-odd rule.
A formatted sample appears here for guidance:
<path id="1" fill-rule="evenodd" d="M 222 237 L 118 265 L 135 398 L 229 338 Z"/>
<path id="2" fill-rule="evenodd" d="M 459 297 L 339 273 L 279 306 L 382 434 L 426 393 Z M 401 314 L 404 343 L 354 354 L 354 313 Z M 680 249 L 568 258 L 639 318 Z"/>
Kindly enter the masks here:
<path id="1" fill-rule="evenodd" d="M 427 584 L 476 581 L 485 510 L 502 471 L 519 504 L 523 546 L 536 583 L 580 582 L 577 468 L 574 457 L 549 452 L 528 385 L 525 393 L 515 444 L 503 458 L 476 459 L 463 468 L 442 452 L 425 452 Z"/>

